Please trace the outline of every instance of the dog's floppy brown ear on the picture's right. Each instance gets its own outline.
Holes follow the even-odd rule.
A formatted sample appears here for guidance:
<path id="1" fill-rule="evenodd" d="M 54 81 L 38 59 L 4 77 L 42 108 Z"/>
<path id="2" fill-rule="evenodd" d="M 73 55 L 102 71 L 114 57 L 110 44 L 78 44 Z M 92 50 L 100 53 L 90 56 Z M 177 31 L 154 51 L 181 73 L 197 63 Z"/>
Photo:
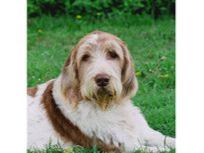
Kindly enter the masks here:
<path id="1" fill-rule="evenodd" d="M 132 58 L 130 56 L 130 53 L 124 44 L 124 42 L 120 42 L 120 46 L 123 50 L 124 54 L 124 64 L 122 67 L 122 74 L 121 74 L 121 79 L 122 79 L 122 96 L 123 97 L 133 97 L 136 94 L 136 91 L 138 89 L 138 83 L 137 83 L 137 78 L 135 76 L 135 70 L 134 70 L 134 65 L 132 62 Z"/>

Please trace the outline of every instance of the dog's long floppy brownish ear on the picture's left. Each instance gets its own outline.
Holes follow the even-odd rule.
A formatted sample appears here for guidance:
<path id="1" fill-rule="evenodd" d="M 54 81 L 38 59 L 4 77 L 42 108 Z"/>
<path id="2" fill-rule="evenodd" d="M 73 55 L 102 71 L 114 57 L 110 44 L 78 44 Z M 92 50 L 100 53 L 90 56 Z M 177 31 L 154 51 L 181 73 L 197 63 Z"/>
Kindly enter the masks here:
<path id="1" fill-rule="evenodd" d="M 78 69 L 76 64 L 77 47 L 71 50 L 66 60 L 61 76 L 61 90 L 65 99 L 68 99 L 74 106 L 80 100 Z"/>

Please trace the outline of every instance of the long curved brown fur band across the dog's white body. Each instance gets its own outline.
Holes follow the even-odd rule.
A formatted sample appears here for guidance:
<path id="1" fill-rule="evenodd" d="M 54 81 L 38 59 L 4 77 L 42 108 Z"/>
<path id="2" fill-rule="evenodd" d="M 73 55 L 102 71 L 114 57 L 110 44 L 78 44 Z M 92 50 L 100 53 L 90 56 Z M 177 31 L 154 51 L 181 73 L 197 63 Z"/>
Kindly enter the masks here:
<path id="1" fill-rule="evenodd" d="M 114 145 L 104 144 L 98 138 L 90 138 L 80 131 L 80 129 L 73 125 L 72 122 L 67 119 L 57 107 L 52 95 L 53 82 L 51 82 L 43 93 L 42 104 L 47 112 L 47 116 L 50 119 L 54 129 L 62 137 L 62 140 L 72 141 L 76 145 L 90 148 L 93 145 L 104 151 L 117 151 L 120 149 Z"/>

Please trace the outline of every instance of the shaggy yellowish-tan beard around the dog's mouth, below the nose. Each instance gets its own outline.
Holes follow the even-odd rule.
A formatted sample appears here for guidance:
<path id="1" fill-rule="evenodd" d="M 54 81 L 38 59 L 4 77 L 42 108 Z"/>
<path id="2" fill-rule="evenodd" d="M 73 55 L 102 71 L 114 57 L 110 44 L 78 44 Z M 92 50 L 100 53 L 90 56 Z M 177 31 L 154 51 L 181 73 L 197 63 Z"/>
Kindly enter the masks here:
<path id="1" fill-rule="evenodd" d="M 88 101 L 96 102 L 103 110 L 120 97 L 122 85 L 111 81 L 106 87 L 98 87 L 93 80 L 86 81 L 81 87 L 82 97 Z"/>

